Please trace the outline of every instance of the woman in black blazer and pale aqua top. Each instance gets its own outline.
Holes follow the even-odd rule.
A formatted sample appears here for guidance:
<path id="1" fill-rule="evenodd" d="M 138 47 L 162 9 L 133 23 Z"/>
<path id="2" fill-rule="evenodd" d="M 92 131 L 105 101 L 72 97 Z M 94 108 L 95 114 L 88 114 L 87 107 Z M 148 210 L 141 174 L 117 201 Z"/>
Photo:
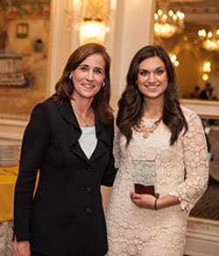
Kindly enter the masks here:
<path id="1" fill-rule="evenodd" d="M 109 65 L 101 45 L 77 48 L 55 94 L 33 109 L 15 189 L 13 256 L 107 252 L 100 186 L 117 173 Z"/>

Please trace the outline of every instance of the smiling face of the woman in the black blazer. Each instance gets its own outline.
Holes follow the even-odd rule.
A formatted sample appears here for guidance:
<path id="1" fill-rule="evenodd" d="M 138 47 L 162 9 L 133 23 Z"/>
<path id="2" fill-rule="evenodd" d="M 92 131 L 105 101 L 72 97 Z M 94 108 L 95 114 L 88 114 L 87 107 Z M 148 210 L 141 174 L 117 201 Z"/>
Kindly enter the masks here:
<path id="1" fill-rule="evenodd" d="M 74 99 L 94 99 L 105 78 L 105 61 L 100 54 L 89 55 L 71 71 L 73 76 Z"/>

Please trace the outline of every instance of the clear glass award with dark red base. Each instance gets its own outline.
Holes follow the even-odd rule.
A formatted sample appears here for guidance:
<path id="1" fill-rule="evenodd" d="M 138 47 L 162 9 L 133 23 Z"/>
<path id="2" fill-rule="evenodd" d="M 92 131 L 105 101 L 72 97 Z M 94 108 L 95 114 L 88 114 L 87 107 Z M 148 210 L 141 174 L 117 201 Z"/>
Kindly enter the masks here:
<path id="1" fill-rule="evenodd" d="M 132 160 L 134 191 L 137 194 L 152 194 L 157 192 L 156 165 L 154 160 Z"/>

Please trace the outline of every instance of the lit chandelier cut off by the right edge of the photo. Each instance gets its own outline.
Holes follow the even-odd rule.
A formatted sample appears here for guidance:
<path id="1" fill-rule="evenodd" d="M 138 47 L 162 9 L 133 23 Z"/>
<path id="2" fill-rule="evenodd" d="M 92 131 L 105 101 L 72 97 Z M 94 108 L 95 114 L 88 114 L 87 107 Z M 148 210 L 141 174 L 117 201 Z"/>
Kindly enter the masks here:
<path id="1" fill-rule="evenodd" d="M 219 29 L 215 30 L 215 33 L 200 29 L 198 35 L 202 40 L 202 47 L 208 51 L 219 51 Z"/>

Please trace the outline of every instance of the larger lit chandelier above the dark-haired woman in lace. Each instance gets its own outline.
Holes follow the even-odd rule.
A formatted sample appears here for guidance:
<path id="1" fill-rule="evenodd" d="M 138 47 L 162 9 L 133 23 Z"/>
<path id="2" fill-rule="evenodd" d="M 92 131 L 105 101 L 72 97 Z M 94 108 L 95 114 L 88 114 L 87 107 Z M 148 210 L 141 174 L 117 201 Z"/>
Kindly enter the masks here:
<path id="1" fill-rule="evenodd" d="M 182 32 L 185 14 L 181 11 L 168 12 L 159 9 L 154 14 L 154 34 L 157 37 L 170 38 L 174 33 Z"/>

